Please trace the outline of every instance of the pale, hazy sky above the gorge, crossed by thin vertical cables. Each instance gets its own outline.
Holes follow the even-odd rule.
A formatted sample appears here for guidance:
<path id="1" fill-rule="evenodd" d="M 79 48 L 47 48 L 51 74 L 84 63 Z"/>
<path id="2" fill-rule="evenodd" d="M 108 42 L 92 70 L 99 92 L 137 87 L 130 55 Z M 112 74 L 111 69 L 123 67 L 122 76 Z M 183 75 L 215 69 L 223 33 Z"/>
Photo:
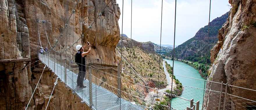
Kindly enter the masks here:
<path id="1" fill-rule="evenodd" d="M 121 11 L 118 21 L 120 34 L 123 31 L 123 34 L 136 41 L 160 44 L 162 0 L 133 0 L 132 19 L 131 0 L 123 0 L 123 12 L 122 0 L 116 1 Z M 189 40 L 208 24 L 209 2 L 210 0 L 177 0 L 175 46 Z M 228 0 L 211 0 L 210 21 L 228 12 L 231 8 L 229 5 Z M 163 0 L 162 13 L 161 44 L 173 45 L 175 0 Z"/>

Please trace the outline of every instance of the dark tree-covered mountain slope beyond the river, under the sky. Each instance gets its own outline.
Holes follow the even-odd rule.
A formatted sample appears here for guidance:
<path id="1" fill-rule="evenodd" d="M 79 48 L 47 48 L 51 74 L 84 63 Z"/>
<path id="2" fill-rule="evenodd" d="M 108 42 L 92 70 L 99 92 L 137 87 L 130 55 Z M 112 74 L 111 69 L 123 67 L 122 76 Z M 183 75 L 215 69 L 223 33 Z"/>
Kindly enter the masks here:
<path id="1" fill-rule="evenodd" d="M 217 43 L 218 30 L 227 21 L 229 12 L 212 20 L 210 24 L 210 36 L 208 36 L 208 25 L 200 28 L 195 36 L 181 45 L 175 47 L 175 57 L 199 63 L 210 63 L 210 49 Z M 171 52 L 167 56 L 171 56 Z M 204 58 L 203 58 L 204 57 Z"/>

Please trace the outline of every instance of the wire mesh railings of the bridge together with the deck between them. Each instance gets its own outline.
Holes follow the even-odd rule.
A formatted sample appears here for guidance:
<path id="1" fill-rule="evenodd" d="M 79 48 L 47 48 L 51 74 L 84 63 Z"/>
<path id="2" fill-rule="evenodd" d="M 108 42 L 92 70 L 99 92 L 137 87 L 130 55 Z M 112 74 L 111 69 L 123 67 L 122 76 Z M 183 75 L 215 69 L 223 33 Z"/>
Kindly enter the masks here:
<path id="1" fill-rule="evenodd" d="M 65 59 L 54 52 L 38 53 L 38 57 L 67 87 L 77 93 L 82 102 L 92 109 L 196 110 L 255 109 L 256 107 L 255 96 L 242 97 L 240 94 L 230 92 L 230 89 L 236 89 L 241 93 L 254 94 L 255 90 L 252 89 L 175 75 L 187 80 L 206 81 L 207 84 L 218 87 L 218 89 L 204 89 L 203 86 L 198 87 L 197 84 L 182 85 L 175 81 L 150 77 L 151 72 L 158 73 L 159 71 L 147 69 L 147 73 L 136 74 L 120 67 L 120 64 L 117 67 L 108 67 L 97 65 L 90 60 L 79 67 L 72 58 L 66 57 Z M 146 85 L 136 78 L 138 76 L 148 80 Z M 79 77 L 82 78 L 79 79 Z M 171 83 L 173 83 L 172 93 L 170 93 Z M 204 104 L 203 101 L 205 101 Z"/>

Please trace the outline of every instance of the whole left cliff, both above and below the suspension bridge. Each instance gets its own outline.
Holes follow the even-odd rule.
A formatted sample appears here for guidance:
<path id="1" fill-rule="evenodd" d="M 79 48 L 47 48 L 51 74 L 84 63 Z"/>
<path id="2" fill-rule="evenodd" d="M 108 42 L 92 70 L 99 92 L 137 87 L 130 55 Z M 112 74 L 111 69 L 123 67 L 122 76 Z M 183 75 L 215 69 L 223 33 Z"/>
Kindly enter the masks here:
<path id="1" fill-rule="evenodd" d="M 112 62 L 116 59 L 115 47 L 120 35 L 118 26 L 120 9 L 115 0 L 109 1 L 79 0 L 77 3 L 73 0 L 0 0 L 0 60 L 31 58 L 34 62 L 38 60 L 37 52 L 41 47 L 39 36 L 42 47 L 50 49 L 48 40 L 51 46 L 54 46 L 56 40 L 63 34 L 55 47 L 57 51 L 62 51 L 84 34 L 84 38 L 78 40 L 74 48 L 68 49 L 67 54 L 70 56 L 75 54 L 77 44 L 85 45 L 89 41 L 92 46 L 89 58 L 101 58 Z M 73 15 L 70 15 L 76 4 L 73 19 Z M 102 16 L 98 17 L 104 8 Z M 70 21 L 65 29 L 65 23 L 69 18 Z M 92 23 L 92 28 L 89 28 Z M 30 64 L 30 62 L 0 63 L 0 98 L 3 99 L 0 100 L 0 109 L 26 107 L 39 79 L 39 73 L 31 69 L 44 67 L 41 64 Z M 25 65 L 29 66 L 23 68 Z M 34 65 L 36 66 L 32 67 Z M 22 69 L 24 71 L 20 71 Z M 29 109 L 44 109 L 47 104 L 49 91 L 53 88 L 56 76 L 51 71 L 45 71 L 43 75 Z M 88 109 L 86 104 L 80 102 L 80 98 L 59 83 L 50 108 Z"/>

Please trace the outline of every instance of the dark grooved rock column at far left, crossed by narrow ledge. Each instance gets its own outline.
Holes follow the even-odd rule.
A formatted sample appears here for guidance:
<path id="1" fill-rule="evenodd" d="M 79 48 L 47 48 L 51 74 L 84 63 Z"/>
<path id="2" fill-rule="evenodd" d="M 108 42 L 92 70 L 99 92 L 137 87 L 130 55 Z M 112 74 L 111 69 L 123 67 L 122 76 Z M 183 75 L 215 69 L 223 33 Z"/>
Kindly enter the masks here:
<path id="1" fill-rule="evenodd" d="M 14 0 L 0 0 L 0 60 L 30 58 L 29 31 L 21 7 Z M 31 70 L 20 71 L 25 64 L 30 63 L 0 63 L 0 109 L 21 109 L 29 100 Z"/>

